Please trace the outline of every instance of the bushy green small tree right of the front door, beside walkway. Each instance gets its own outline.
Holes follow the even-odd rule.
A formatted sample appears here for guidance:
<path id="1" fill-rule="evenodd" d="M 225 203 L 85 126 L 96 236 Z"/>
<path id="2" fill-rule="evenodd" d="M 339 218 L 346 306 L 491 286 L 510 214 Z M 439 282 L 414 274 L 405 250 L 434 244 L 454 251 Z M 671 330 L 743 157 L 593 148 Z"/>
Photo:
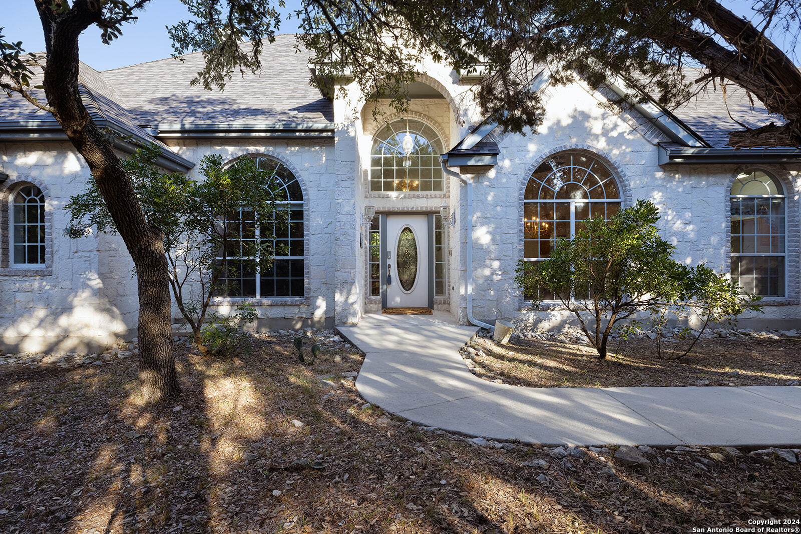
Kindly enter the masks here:
<path id="1" fill-rule="evenodd" d="M 759 309 L 723 275 L 703 264 L 675 261 L 674 246 L 655 226 L 658 220 L 658 208 L 644 200 L 609 220 L 589 219 L 572 241 L 558 239 L 549 259 L 521 260 L 515 281 L 535 305 L 545 294 L 557 295 L 602 359 L 615 325 L 636 314 L 665 318 L 692 310 L 706 328 L 710 321 Z"/>

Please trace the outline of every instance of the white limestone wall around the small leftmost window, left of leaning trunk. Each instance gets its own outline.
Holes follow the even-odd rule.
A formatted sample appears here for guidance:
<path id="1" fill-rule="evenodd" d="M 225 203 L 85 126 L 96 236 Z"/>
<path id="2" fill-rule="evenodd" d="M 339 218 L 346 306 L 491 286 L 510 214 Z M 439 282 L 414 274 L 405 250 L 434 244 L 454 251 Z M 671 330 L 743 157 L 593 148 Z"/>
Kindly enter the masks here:
<path id="1" fill-rule="evenodd" d="M 130 315 L 107 299 L 115 285 L 101 263 L 117 255 L 113 240 L 69 239 L 63 211 L 70 195 L 85 188 L 83 159 L 67 143 L 0 143 L 2 250 L 0 267 L 0 347 L 3 351 L 97 351 L 126 336 Z M 9 265 L 9 203 L 18 187 L 33 183 L 46 198 L 46 265 Z"/>

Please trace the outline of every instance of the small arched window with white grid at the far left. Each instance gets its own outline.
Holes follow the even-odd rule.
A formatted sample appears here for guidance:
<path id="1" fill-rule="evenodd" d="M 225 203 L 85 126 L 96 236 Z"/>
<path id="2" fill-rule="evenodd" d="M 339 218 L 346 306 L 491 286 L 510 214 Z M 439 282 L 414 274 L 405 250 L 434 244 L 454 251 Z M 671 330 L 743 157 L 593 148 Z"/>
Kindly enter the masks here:
<path id="1" fill-rule="evenodd" d="M 11 264 L 45 264 L 45 196 L 36 186 L 25 186 L 14 193 L 11 224 Z"/>

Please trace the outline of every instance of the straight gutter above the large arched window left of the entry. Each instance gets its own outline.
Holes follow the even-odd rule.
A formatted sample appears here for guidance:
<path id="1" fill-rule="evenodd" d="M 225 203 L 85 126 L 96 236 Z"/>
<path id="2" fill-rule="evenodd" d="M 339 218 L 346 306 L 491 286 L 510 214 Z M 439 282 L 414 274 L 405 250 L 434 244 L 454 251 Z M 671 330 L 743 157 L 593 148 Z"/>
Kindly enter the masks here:
<path id="1" fill-rule="evenodd" d="M 333 139 L 331 122 L 264 122 L 242 123 L 183 123 L 152 124 L 150 130 L 156 139 Z"/>

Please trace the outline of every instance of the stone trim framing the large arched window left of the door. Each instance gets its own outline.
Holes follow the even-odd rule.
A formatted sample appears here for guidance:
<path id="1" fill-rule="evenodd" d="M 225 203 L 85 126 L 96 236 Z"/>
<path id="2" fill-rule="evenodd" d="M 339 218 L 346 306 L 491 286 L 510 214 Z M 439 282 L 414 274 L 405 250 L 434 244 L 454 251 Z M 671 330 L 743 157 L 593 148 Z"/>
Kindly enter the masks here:
<path id="1" fill-rule="evenodd" d="M 251 303 L 253 306 L 309 306 L 312 304 L 312 294 L 309 290 L 309 280 L 311 280 L 312 266 L 310 261 L 311 247 L 309 245 L 309 197 L 308 187 L 306 187 L 306 180 L 304 173 L 287 158 L 286 155 L 273 151 L 259 151 L 259 152 L 245 152 L 235 158 L 229 159 L 223 163 L 223 168 L 232 165 L 239 158 L 268 158 L 274 159 L 276 162 L 281 163 L 295 175 L 295 178 L 300 185 L 300 191 L 303 191 L 303 271 L 304 271 L 304 296 L 303 297 L 212 297 L 212 306 L 223 306 L 225 304 L 239 304 Z"/>

